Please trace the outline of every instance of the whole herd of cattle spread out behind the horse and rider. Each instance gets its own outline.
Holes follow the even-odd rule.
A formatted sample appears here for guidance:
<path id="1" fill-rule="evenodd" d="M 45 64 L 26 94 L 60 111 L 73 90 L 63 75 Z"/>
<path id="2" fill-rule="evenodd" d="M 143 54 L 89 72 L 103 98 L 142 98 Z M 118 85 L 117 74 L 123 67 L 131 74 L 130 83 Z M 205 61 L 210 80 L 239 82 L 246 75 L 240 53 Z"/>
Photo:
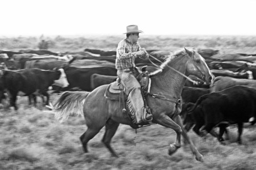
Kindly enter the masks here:
<path id="1" fill-rule="evenodd" d="M 186 82 L 181 94 L 184 125 L 199 135 L 204 130 L 224 141 L 229 124 L 238 124 L 238 139 L 244 122 L 255 124 L 256 117 L 256 54 L 220 54 L 218 50 L 198 49 L 216 77 L 210 86 Z M 172 54 L 168 50 L 148 50 L 156 65 Z M 115 51 L 85 49 L 84 52 L 54 53 L 49 50 L 0 50 L 0 100 L 9 99 L 10 107 L 18 109 L 16 96 L 47 97 L 49 87 L 55 92 L 92 91 L 115 81 Z M 161 61 L 161 62 L 159 62 Z M 148 60 L 135 59 L 137 67 L 156 67 Z M 214 127 L 220 127 L 217 135 Z"/>

